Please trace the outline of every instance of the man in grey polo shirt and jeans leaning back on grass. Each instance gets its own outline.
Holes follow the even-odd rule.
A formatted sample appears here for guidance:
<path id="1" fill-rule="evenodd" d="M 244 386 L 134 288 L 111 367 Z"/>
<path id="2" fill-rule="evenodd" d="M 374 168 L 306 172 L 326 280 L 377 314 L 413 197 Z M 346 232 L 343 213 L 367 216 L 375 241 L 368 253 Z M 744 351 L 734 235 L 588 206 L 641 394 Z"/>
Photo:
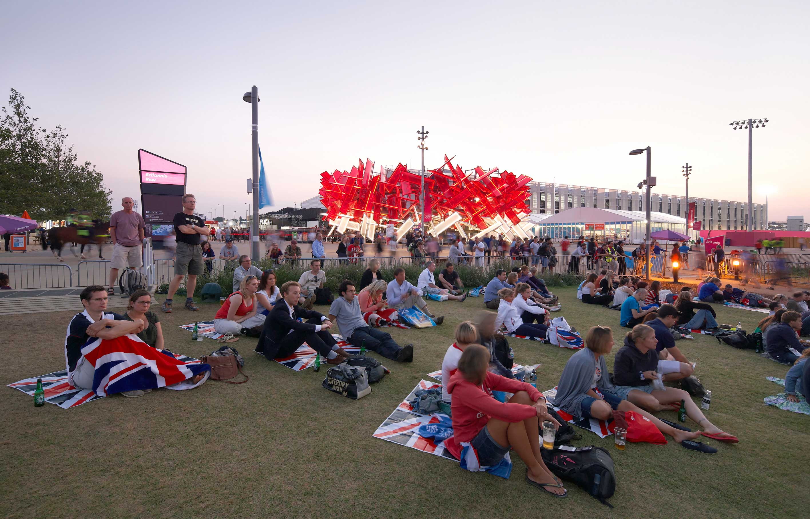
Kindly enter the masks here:
<path id="1" fill-rule="evenodd" d="M 339 297 L 329 308 L 329 320 L 335 322 L 349 344 L 362 347 L 365 343 L 367 350 L 376 351 L 386 359 L 399 362 L 413 360 L 413 346 L 407 344 L 399 346 L 390 334 L 372 328 L 363 320 L 360 312 L 360 301 L 355 296 L 355 285 L 348 279 L 340 283 Z"/>

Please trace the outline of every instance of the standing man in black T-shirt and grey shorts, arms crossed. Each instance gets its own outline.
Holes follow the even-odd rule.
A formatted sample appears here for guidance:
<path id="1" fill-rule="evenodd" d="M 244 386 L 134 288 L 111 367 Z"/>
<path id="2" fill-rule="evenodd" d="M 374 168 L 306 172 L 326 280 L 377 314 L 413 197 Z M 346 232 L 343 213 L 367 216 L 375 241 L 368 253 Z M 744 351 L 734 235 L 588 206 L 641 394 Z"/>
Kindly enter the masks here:
<path id="1" fill-rule="evenodd" d="M 185 308 L 197 311 L 194 305 L 194 288 L 197 287 L 197 274 L 203 274 L 203 249 L 200 247 L 200 236 L 208 236 L 211 229 L 207 228 L 202 218 L 194 215 L 197 200 L 193 194 L 186 193 L 181 198 L 183 212 L 174 215 L 174 231 L 177 234 L 177 259 L 174 261 L 174 279 L 168 285 L 168 295 L 160 308 L 165 313 L 172 313 L 172 298 L 180 282 L 189 274 L 189 281 L 185 283 Z"/>

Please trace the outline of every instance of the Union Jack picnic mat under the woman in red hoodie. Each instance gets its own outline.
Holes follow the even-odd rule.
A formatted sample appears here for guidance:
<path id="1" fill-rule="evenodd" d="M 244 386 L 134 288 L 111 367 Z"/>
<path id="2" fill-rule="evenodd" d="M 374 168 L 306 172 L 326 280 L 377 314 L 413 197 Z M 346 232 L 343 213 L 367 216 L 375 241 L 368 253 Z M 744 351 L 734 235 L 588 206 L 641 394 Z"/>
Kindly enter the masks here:
<path id="1" fill-rule="evenodd" d="M 441 372 L 439 372 L 439 374 L 441 376 Z M 420 450 L 423 453 L 445 457 L 458 463 L 458 460 L 454 458 L 443 445 L 436 445 L 433 442 L 433 438 L 427 438 L 419 434 L 419 428 L 422 425 L 440 423 L 442 418 L 445 420 L 449 419 L 444 413 L 420 415 L 413 411 L 411 402 L 416 399 L 416 390 L 433 388 L 441 388 L 441 384 L 431 381 L 420 381 L 399 406 L 394 409 L 394 412 L 374 431 L 372 436 L 398 445 L 404 445 L 411 449 Z"/>

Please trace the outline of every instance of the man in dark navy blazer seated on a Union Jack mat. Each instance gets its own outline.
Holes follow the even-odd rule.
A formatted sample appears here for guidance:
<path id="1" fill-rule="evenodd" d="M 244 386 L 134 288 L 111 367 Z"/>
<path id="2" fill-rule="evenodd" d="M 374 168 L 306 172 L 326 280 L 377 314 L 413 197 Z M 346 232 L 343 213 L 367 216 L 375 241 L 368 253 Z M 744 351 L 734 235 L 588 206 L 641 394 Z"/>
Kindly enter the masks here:
<path id="1" fill-rule="evenodd" d="M 298 306 L 301 285 L 288 281 L 281 286 L 282 300 L 277 302 L 264 321 L 256 352 L 267 360 L 292 355 L 306 342 L 313 350 L 326 357 L 329 364 L 340 364 L 352 357 L 330 334 L 332 323 L 322 313 Z M 298 318 L 307 321 L 298 321 Z"/>

